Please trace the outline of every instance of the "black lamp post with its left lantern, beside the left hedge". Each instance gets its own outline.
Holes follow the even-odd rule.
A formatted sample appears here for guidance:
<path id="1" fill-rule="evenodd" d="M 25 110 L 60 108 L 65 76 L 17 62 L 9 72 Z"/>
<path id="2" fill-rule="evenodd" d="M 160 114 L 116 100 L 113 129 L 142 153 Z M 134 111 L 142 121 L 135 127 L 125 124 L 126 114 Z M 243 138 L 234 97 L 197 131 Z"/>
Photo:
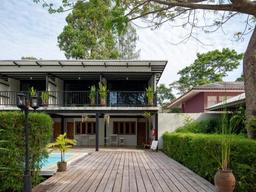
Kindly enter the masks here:
<path id="1" fill-rule="evenodd" d="M 26 103 L 26 95 L 24 93 L 17 94 L 17 107 L 21 109 L 21 111 L 25 111 L 25 134 L 26 134 L 26 157 L 25 157 L 25 172 L 24 172 L 24 184 L 23 184 L 23 192 L 32 192 L 31 187 L 31 178 L 30 178 L 30 170 L 29 170 L 29 132 L 28 132 L 28 114 L 29 108 Z"/>

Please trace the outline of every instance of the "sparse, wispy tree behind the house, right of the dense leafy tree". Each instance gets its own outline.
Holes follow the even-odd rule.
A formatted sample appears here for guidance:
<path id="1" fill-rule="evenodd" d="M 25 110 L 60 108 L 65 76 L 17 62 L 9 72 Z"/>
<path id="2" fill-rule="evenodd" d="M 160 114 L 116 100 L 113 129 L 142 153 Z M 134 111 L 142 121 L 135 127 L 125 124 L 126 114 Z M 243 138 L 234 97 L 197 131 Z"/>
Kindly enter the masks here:
<path id="1" fill-rule="evenodd" d="M 139 36 L 136 33 L 136 29 L 128 23 L 118 35 L 118 50 L 119 59 L 137 59 L 140 58 L 140 50 L 136 51 L 136 43 L 139 40 Z"/>

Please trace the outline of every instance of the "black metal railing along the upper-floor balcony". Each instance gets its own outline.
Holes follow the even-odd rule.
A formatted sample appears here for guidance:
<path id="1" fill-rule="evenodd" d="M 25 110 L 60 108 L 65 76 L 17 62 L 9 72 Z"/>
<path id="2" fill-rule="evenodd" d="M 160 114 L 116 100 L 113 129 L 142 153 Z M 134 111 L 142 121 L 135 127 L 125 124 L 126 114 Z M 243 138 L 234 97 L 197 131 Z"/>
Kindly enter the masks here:
<path id="1" fill-rule="evenodd" d="M 20 91 L 0 91 L 0 106 L 16 106 Z M 23 91 L 30 104 L 29 91 Z M 95 92 L 95 104 L 91 103 L 90 91 L 37 91 L 40 107 L 157 107 L 157 93 L 153 103 L 148 103 L 146 91 L 108 91 L 105 104 L 101 103 L 100 93 Z M 48 98 L 48 99 L 47 99 Z M 104 101 L 104 99 L 103 99 Z"/>

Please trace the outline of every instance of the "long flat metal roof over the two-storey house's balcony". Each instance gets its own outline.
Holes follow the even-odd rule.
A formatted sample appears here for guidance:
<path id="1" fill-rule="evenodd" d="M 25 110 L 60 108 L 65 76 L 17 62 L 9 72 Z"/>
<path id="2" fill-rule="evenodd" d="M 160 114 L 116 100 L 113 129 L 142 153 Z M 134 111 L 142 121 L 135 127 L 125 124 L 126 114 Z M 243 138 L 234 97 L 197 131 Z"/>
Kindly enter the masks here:
<path id="1" fill-rule="evenodd" d="M 148 80 L 152 73 L 159 81 L 166 60 L 0 60 L 0 79 L 106 79 Z"/>

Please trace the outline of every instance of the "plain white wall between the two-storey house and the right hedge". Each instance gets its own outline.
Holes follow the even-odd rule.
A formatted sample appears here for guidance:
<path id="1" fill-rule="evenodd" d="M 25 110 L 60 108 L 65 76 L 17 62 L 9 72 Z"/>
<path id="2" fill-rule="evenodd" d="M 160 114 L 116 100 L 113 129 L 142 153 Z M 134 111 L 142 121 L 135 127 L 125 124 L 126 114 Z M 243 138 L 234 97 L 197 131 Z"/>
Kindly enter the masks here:
<path id="1" fill-rule="evenodd" d="M 187 114 L 196 121 L 215 117 L 215 113 L 182 113 Z M 158 113 L 158 148 L 163 148 L 162 134 L 166 131 L 174 132 L 178 127 L 184 125 L 184 116 L 179 113 Z M 153 124 L 154 125 L 154 124 Z M 152 135 L 152 134 L 151 134 Z"/>

